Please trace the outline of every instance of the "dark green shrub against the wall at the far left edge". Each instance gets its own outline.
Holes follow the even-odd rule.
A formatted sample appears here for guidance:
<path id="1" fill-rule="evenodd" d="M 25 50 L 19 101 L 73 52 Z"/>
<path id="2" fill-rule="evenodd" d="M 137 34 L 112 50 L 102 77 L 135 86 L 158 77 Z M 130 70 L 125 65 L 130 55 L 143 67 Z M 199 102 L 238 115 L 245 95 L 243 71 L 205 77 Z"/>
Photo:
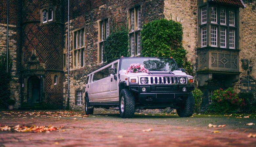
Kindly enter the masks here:
<path id="1" fill-rule="evenodd" d="M 7 72 L 7 57 L 6 54 L 0 56 L 0 108 L 7 108 L 7 100 L 10 97 L 10 81 L 12 62 L 8 59 Z"/>

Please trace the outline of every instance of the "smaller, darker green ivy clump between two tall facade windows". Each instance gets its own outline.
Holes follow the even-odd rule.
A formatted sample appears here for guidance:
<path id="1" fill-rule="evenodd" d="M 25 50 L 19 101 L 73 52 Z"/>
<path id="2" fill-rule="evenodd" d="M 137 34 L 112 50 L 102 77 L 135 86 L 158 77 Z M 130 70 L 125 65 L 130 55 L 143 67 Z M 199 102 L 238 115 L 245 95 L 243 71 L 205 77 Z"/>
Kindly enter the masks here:
<path id="1" fill-rule="evenodd" d="M 128 30 L 125 26 L 117 27 L 111 29 L 111 35 L 108 36 L 105 45 L 105 59 L 107 62 L 116 60 L 117 58 L 123 56 L 128 57 Z"/>

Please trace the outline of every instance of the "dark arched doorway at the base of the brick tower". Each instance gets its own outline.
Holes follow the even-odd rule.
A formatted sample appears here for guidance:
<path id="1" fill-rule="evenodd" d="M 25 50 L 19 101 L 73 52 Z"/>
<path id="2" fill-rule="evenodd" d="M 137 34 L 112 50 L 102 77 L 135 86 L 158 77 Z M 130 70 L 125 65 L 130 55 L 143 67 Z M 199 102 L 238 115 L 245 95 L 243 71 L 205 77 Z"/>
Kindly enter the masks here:
<path id="1" fill-rule="evenodd" d="M 28 80 L 28 103 L 40 102 L 40 79 L 31 76 Z"/>

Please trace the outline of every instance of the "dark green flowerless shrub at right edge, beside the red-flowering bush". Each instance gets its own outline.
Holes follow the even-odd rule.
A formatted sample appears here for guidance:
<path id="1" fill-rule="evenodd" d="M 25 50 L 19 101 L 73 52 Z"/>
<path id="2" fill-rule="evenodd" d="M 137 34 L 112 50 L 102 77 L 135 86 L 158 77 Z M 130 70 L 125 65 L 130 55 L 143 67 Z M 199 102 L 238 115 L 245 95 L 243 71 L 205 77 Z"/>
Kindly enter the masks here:
<path id="1" fill-rule="evenodd" d="M 253 96 L 253 93 L 250 92 L 240 92 L 238 97 L 245 100 L 245 107 L 243 111 L 256 113 L 256 99 Z"/>

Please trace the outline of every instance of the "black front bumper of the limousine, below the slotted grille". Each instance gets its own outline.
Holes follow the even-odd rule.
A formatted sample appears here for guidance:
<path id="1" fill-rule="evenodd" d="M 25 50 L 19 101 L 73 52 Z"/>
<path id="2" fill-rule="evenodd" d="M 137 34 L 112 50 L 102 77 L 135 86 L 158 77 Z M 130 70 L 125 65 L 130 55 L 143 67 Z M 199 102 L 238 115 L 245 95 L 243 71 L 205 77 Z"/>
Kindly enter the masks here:
<path id="1" fill-rule="evenodd" d="M 146 88 L 143 92 L 142 88 Z M 186 88 L 186 91 L 182 91 Z M 145 105 L 182 103 L 194 85 L 130 85 L 129 89 L 138 96 L 137 103 Z"/>

